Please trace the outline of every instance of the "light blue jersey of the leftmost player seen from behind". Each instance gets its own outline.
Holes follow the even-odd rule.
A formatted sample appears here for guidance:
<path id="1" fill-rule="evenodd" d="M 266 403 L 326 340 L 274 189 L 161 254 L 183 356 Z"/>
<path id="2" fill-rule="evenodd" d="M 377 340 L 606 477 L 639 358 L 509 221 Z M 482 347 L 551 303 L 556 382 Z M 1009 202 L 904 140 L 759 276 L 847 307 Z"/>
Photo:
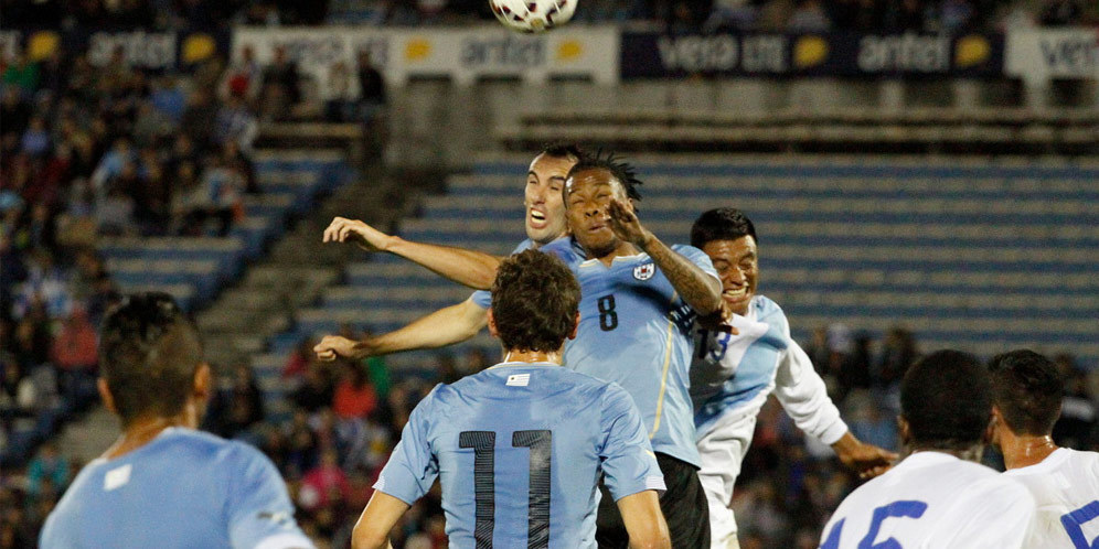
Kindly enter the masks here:
<path id="1" fill-rule="evenodd" d="M 247 444 L 182 428 L 88 463 L 46 519 L 40 545 L 312 547 L 270 460 Z"/>

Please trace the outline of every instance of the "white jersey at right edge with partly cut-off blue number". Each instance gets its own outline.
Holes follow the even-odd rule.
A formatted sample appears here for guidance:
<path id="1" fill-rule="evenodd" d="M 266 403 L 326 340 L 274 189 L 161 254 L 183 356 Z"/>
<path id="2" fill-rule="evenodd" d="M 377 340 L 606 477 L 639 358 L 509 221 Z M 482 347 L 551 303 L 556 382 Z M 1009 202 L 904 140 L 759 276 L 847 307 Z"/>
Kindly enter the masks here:
<path id="1" fill-rule="evenodd" d="M 1023 483 L 1038 506 L 1025 547 L 1097 547 L 1099 453 L 1060 448 L 1041 463 L 1013 469 L 1004 475 Z"/>

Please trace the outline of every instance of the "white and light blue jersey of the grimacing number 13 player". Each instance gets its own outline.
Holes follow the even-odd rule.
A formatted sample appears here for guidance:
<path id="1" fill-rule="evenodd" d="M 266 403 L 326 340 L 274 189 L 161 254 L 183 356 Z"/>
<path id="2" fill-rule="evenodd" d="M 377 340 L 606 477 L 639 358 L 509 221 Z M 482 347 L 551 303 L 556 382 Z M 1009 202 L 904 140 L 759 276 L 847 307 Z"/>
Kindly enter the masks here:
<path id="1" fill-rule="evenodd" d="M 734 316 L 730 323 L 739 334 L 700 326 L 694 330 L 691 398 L 697 438 L 705 437 L 723 418 L 727 418 L 723 424 L 754 418 L 773 391 L 799 429 L 825 444 L 840 440 L 847 426 L 809 355 L 790 337 L 782 309 L 756 295 L 748 314 Z"/>

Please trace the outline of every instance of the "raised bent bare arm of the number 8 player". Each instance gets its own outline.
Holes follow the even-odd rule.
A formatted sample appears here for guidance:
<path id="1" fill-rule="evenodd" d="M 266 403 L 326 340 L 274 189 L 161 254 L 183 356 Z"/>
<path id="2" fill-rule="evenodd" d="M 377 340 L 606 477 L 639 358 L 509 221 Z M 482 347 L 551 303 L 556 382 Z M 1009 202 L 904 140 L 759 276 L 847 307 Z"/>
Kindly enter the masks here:
<path id="1" fill-rule="evenodd" d="M 641 248 L 661 272 L 668 277 L 672 288 L 680 293 L 691 309 L 700 315 L 708 315 L 722 306 L 722 282 L 707 274 L 690 259 L 676 254 L 660 241 L 649 229 L 641 226 L 637 214 L 620 201 L 610 203 L 610 226 L 619 238 Z"/>

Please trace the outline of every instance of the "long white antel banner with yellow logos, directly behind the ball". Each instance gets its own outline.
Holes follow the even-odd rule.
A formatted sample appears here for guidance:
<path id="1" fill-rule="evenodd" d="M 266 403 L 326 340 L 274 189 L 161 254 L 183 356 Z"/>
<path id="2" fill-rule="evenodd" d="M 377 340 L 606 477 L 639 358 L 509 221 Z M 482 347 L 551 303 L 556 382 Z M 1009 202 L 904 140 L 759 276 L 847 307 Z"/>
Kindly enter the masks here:
<path id="1" fill-rule="evenodd" d="M 500 25 L 462 29 L 266 29 L 237 28 L 233 60 L 249 47 L 265 65 L 285 47 L 298 69 L 314 78 L 321 94 L 343 86 L 341 72 L 355 74 L 359 52 L 393 85 L 414 77 L 447 77 L 471 84 L 482 77 L 545 82 L 553 76 L 587 77 L 612 84 L 619 76 L 619 33 L 613 26 L 569 26 L 544 34 L 518 34 Z M 350 78 L 352 82 L 355 78 Z M 352 94 L 358 94 L 353 89 Z"/>

